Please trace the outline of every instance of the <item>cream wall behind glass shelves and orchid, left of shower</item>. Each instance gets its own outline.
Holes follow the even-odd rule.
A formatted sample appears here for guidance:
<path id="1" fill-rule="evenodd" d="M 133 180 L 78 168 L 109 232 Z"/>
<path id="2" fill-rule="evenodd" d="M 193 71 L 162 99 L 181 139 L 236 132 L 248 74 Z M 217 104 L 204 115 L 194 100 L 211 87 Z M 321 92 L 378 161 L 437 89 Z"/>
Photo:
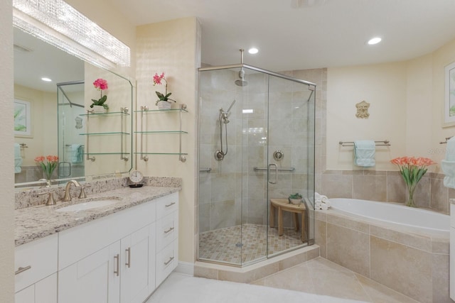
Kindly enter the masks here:
<path id="1" fill-rule="evenodd" d="M 164 87 L 153 86 L 155 73 L 165 72 L 168 92 L 177 101 L 186 104 L 188 113 L 183 114 L 183 150 L 188 153 L 186 162 L 177 155 L 149 155 L 149 160 L 138 160 L 137 168 L 147 176 L 181 177 L 179 220 L 179 257 L 184 262 L 195 260 L 195 140 L 196 138 L 196 73 L 200 62 L 198 45 L 199 25 L 196 18 L 153 23 L 137 28 L 137 108 L 149 106 L 157 109 L 155 91 L 164 92 Z M 137 116 L 137 129 L 140 126 Z M 144 124 L 148 131 L 178 130 L 178 114 L 148 114 Z M 137 150 L 139 149 L 139 138 Z M 177 135 L 145 135 L 144 151 L 166 151 L 178 153 Z"/>

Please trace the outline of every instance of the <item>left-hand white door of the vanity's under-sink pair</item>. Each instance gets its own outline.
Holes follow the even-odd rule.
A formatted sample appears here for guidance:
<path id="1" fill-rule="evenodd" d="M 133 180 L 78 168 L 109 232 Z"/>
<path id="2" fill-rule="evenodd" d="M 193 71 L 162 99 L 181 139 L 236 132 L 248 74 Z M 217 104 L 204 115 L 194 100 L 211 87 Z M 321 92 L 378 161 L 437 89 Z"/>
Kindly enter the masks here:
<path id="1" fill-rule="evenodd" d="M 58 302 L 118 303 L 120 241 L 58 272 Z"/>

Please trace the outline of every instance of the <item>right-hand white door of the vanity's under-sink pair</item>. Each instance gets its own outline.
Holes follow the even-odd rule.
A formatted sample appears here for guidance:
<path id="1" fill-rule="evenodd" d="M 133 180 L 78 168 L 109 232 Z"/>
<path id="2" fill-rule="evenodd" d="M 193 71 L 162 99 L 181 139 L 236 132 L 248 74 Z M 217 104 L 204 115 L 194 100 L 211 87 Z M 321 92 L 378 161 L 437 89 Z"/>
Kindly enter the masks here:
<path id="1" fill-rule="evenodd" d="M 149 296 L 151 285 L 155 286 L 151 275 L 151 264 L 155 255 L 155 224 L 139 229 L 122 238 L 122 278 L 120 302 L 144 302 Z"/>

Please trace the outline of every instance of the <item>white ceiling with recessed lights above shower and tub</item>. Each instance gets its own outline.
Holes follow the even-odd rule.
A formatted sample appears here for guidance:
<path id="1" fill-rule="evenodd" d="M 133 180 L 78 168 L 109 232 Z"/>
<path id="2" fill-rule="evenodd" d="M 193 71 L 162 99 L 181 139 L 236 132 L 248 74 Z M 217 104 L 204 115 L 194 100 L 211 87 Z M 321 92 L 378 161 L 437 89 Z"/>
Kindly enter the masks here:
<path id="1" fill-rule="evenodd" d="M 135 26 L 196 16 L 202 61 L 274 72 L 395 62 L 455 39 L 454 0 L 106 0 Z M 378 45 L 367 45 L 380 36 Z"/>

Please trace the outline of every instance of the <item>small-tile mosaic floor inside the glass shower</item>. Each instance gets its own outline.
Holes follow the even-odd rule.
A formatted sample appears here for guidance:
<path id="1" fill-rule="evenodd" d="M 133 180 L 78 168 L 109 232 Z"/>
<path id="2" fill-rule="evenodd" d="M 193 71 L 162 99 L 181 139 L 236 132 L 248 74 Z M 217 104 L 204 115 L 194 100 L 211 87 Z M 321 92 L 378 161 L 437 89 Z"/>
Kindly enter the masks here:
<path id="1" fill-rule="evenodd" d="M 283 236 L 278 236 L 277 228 L 242 224 L 200 233 L 199 259 L 245 264 L 264 258 L 267 255 L 267 229 L 268 255 L 304 244 L 301 242 L 301 233 L 294 228 L 284 228 Z"/>

